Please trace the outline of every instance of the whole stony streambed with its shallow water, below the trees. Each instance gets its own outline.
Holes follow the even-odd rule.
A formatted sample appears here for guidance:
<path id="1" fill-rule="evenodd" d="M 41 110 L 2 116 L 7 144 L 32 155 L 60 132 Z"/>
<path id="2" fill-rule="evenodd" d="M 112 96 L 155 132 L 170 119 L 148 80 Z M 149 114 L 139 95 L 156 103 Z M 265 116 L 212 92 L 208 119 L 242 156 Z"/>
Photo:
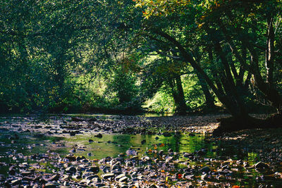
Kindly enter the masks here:
<path id="1" fill-rule="evenodd" d="M 282 187 L 281 129 L 225 116 L 1 117 L 0 187 Z"/>

